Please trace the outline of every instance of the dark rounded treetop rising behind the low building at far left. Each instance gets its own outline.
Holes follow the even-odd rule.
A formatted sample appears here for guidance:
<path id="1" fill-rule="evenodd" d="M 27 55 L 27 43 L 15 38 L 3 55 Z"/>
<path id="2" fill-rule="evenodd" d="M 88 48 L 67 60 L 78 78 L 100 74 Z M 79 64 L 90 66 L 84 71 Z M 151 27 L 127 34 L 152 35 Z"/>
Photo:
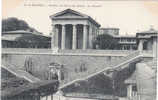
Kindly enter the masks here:
<path id="1" fill-rule="evenodd" d="M 29 25 L 24 20 L 19 20 L 15 17 L 10 17 L 2 20 L 2 31 L 15 31 L 30 29 Z"/>

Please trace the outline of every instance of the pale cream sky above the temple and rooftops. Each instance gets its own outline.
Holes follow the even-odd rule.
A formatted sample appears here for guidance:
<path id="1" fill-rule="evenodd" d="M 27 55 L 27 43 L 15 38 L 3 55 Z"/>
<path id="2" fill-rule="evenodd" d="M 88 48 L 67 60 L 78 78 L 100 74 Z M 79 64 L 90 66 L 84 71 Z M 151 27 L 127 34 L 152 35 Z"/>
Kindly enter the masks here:
<path id="1" fill-rule="evenodd" d="M 158 30 L 158 1 L 85 1 L 85 0 L 15 0 L 3 2 L 3 18 L 17 17 L 48 35 L 52 30 L 50 15 L 73 9 L 91 16 L 102 28 L 120 28 L 120 35 Z M 31 5 L 33 4 L 33 5 Z M 7 5 L 7 6 L 4 6 Z"/>

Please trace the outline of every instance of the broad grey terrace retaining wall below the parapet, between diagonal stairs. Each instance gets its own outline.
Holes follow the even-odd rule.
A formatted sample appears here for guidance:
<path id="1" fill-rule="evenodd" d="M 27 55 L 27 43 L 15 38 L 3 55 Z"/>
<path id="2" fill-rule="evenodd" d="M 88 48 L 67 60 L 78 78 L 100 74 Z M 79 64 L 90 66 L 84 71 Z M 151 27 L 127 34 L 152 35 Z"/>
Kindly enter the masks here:
<path id="1" fill-rule="evenodd" d="M 111 61 L 120 59 L 122 56 L 97 56 L 97 55 L 71 55 L 71 54 L 2 54 L 2 64 L 11 64 L 19 69 L 25 69 L 24 66 L 28 59 L 31 61 L 33 73 L 40 79 L 45 79 L 50 63 L 63 65 L 64 83 L 70 82 L 76 78 L 85 77 L 91 73 L 109 67 Z"/>

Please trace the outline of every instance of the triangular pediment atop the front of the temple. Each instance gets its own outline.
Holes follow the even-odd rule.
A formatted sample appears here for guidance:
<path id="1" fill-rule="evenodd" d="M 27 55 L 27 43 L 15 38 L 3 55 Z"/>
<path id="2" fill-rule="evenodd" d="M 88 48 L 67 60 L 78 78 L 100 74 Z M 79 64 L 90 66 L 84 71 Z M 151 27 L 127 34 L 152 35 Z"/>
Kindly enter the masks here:
<path id="1" fill-rule="evenodd" d="M 81 14 L 71 9 L 67 9 L 52 15 L 51 18 L 87 18 L 87 15 Z"/>

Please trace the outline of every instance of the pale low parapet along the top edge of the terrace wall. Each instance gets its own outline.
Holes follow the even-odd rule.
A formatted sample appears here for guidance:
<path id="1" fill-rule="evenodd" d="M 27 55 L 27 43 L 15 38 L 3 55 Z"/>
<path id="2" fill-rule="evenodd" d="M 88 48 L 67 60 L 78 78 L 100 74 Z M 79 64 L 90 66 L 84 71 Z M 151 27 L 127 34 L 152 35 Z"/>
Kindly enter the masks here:
<path id="1" fill-rule="evenodd" d="M 59 50 L 58 54 L 61 55 L 96 55 L 96 56 L 126 56 L 135 52 L 134 50 Z M 2 53 L 6 54 L 52 54 L 51 49 L 35 49 L 35 48 L 2 48 Z"/>

